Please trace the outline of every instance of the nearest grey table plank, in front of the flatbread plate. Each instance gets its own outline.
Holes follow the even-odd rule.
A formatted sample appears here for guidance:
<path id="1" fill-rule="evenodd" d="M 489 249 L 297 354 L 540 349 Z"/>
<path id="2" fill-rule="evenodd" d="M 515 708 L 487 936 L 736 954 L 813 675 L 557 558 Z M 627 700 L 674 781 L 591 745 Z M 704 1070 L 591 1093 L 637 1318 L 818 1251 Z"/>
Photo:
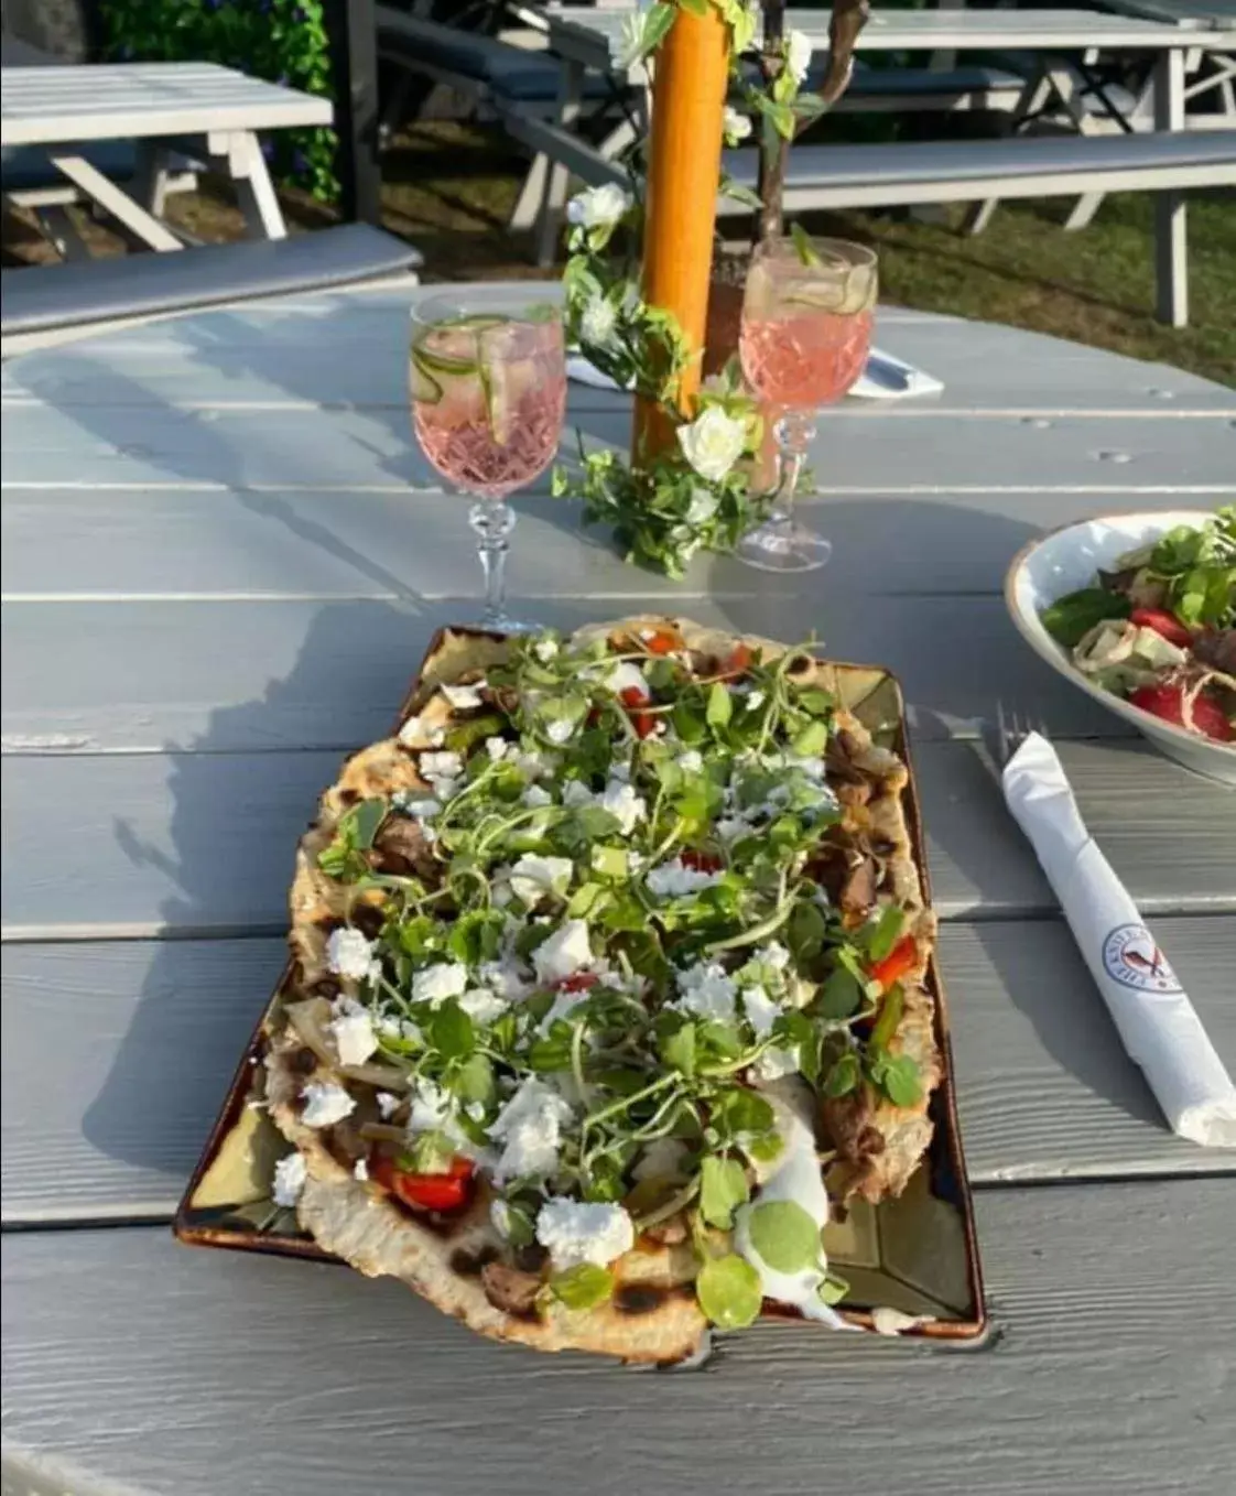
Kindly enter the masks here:
<path id="1" fill-rule="evenodd" d="M 997 1189 L 977 1216 L 992 1349 L 762 1325 L 670 1381 L 162 1228 L 7 1234 L 6 1459 L 177 1496 L 1227 1496 L 1232 1182 Z M 877 1445 L 839 1436 L 875 1408 Z"/>

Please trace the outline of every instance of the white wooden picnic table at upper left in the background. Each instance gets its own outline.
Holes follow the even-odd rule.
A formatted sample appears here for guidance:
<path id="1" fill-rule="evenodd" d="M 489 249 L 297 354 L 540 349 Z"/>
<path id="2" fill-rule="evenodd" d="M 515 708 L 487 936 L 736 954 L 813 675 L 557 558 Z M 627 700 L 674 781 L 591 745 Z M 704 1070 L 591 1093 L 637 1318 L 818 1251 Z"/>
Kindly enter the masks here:
<path id="1" fill-rule="evenodd" d="M 183 248 L 162 221 L 168 144 L 201 151 L 230 177 L 251 235 L 287 229 L 259 130 L 331 123 L 331 100 L 263 82 L 215 63 L 105 63 L 0 69 L 0 144 L 42 147 L 57 172 L 153 250 Z M 145 160 L 135 197 L 85 159 L 88 141 L 138 141 Z M 34 206 L 48 193 L 25 194 Z M 18 194 L 18 200 L 25 200 Z"/>

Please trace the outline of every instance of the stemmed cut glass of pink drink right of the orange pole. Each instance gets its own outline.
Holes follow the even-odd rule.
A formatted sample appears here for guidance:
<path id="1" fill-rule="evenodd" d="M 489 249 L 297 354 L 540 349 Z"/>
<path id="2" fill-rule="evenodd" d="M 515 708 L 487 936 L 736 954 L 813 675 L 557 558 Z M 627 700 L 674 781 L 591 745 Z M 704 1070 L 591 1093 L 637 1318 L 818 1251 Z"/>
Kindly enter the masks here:
<path id="1" fill-rule="evenodd" d="M 805 233 L 762 244 L 742 298 L 739 355 L 747 383 L 777 413 L 781 477 L 768 519 L 738 555 L 766 571 L 811 571 L 832 543 L 793 518 L 799 473 L 816 435 L 816 411 L 850 389 L 866 367 L 875 308 L 875 253 Z"/>

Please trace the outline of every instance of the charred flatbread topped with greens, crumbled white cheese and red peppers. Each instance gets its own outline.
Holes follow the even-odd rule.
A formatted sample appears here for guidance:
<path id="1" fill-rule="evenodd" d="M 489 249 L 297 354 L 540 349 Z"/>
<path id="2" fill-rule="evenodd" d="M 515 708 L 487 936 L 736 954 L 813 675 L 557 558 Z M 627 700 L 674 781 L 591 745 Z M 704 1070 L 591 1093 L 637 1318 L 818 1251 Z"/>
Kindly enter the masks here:
<path id="1" fill-rule="evenodd" d="M 905 784 L 802 649 L 444 636 L 298 851 L 275 1198 L 539 1349 L 842 1322 L 820 1233 L 904 1189 L 941 1076 Z"/>

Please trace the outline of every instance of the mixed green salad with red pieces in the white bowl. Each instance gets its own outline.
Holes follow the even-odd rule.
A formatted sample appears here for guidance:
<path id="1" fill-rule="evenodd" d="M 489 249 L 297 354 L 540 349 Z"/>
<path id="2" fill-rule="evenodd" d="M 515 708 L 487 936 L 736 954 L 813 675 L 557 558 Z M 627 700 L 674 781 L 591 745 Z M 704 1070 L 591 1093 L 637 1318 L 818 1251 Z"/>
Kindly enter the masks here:
<path id="1" fill-rule="evenodd" d="M 1236 506 L 1127 552 L 1041 619 L 1095 685 L 1200 738 L 1236 742 Z"/>

